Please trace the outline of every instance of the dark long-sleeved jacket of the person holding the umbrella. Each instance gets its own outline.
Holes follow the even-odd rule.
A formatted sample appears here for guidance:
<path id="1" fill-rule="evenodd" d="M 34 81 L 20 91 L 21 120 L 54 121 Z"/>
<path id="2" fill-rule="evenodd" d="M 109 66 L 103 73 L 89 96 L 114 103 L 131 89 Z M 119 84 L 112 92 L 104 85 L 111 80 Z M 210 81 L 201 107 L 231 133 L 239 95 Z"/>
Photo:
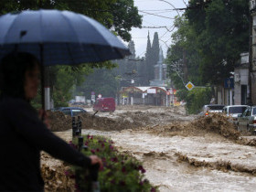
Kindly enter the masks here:
<path id="1" fill-rule="evenodd" d="M 21 99 L 0 100 L 0 191 L 43 191 L 40 151 L 72 165 L 91 159 L 51 133 L 36 110 Z"/>

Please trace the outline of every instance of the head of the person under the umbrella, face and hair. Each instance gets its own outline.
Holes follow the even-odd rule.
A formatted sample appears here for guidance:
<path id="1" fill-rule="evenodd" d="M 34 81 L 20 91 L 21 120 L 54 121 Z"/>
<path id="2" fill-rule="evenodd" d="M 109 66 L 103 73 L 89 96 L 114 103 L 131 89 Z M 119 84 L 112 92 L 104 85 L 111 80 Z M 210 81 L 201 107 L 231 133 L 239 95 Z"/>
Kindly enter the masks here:
<path id="1" fill-rule="evenodd" d="M 30 101 L 37 96 L 39 62 L 25 52 L 10 53 L 0 63 L 0 94 Z"/>

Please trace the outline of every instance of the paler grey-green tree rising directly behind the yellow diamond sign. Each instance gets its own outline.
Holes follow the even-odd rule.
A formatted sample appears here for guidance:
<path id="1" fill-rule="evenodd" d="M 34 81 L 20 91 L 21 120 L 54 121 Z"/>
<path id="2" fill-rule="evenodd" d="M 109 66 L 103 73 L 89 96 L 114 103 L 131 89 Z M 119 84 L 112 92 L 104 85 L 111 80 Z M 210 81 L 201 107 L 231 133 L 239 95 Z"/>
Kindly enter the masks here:
<path id="1" fill-rule="evenodd" d="M 199 56 L 197 53 L 197 37 L 188 25 L 186 16 L 176 16 L 175 26 L 177 30 L 173 33 L 174 44 L 168 49 L 167 70 L 170 79 L 173 80 L 176 89 L 184 89 L 190 80 L 195 85 L 201 85 L 198 71 Z"/>

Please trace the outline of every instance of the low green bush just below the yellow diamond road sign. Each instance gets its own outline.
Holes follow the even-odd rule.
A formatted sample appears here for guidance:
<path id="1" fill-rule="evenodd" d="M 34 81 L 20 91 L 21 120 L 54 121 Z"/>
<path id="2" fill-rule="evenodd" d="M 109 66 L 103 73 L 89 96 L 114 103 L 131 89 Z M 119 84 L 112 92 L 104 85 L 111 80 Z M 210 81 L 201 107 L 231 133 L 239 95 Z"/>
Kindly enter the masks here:
<path id="1" fill-rule="evenodd" d="M 184 94 L 184 91 L 178 92 L 178 96 Z M 181 96 L 187 102 L 186 108 L 188 113 L 198 113 L 205 104 L 208 104 L 211 99 L 210 88 L 194 88 L 192 91 L 187 91 L 187 96 Z"/>

